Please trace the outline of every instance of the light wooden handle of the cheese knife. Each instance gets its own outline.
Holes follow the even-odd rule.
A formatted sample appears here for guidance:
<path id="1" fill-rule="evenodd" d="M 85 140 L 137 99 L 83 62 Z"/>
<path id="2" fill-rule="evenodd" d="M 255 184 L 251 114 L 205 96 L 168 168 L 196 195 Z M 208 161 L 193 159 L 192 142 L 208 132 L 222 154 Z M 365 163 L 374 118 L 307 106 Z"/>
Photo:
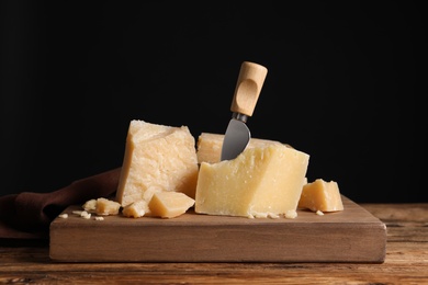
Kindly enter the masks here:
<path id="1" fill-rule="evenodd" d="M 267 73 L 268 69 L 263 66 L 243 62 L 232 101 L 232 112 L 252 116 Z"/>

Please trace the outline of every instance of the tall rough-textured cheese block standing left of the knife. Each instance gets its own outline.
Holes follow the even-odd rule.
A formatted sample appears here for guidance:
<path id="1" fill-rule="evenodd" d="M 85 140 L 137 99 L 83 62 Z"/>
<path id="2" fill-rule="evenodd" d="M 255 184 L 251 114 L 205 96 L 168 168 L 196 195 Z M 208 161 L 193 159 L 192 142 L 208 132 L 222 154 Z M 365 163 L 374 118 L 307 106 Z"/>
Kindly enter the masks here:
<path id="1" fill-rule="evenodd" d="M 116 200 L 123 207 L 149 202 L 161 191 L 194 197 L 198 157 L 187 126 L 173 127 L 133 119 L 126 137 Z"/>

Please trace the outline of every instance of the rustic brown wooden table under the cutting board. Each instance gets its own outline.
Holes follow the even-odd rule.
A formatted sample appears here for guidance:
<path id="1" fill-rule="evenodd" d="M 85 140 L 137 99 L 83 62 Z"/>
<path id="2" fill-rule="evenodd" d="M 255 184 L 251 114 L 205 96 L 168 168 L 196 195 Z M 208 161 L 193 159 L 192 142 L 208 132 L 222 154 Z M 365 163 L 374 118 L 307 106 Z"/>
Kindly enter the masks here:
<path id="1" fill-rule="evenodd" d="M 384 263 L 55 263 L 0 240 L 0 284 L 428 284 L 428 203 L 360 204 L 387 227 Z"/>

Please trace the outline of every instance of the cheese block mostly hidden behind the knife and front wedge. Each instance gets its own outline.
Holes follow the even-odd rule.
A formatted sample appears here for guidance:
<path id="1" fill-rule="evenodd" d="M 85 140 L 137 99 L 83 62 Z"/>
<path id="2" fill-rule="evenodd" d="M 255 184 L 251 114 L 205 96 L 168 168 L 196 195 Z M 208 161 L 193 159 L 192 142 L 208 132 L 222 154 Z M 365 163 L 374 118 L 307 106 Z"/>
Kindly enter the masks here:
<path id="1" fill-rule="evenodd" d="M 224 135 L 221 134 L 202 133 L 196 142 L 198 163 L 203 161 L 210 163 L 218 162 L 222 155 L 223 139 Z M 268 145 L 282 145 L 282 142 L 261 138 L 250 138 L 247 148 L 264 147 Z"/>

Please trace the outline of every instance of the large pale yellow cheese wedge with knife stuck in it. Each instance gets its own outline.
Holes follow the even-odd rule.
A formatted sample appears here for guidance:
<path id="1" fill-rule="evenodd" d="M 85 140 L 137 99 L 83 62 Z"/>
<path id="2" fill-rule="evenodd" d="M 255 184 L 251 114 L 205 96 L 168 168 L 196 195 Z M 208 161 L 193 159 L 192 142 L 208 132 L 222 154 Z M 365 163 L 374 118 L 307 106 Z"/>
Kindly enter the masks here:
<path id="1" fill-rule="evenodd" d="M 236 159 L 202 162 L 195 213 L 296 217 L 309 156 L 280 145 L 247 148 Z"/>

